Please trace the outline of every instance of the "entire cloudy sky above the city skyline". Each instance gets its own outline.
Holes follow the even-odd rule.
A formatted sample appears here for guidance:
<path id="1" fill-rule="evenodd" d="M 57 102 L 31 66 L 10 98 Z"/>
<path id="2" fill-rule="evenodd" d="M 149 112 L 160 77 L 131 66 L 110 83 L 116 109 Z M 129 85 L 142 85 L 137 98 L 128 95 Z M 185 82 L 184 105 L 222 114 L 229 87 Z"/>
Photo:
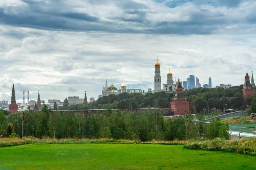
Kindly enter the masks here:
<path id="1" fill-rule="evenodd" d="M 98 98 L 105 79 L 147 90 L 159 56 L 183 81 L 256 71 L 255 0 L 0 0 L 0 100 Z"/>

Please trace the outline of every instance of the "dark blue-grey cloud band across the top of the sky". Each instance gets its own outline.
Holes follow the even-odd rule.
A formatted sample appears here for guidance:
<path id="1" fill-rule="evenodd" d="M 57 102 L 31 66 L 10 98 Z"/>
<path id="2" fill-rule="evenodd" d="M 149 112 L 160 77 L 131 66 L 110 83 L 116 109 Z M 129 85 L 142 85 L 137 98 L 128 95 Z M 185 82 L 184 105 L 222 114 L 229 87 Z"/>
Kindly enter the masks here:
<path id="1" fill-rule="evenodd" d="M 246 0 L 244 0 L 246 1 Z M 49 30 L 103 31 L 145 34 L 212 34 L 239 20 L 201 5 L 238 7 L 243 0 L 208 1 L 35 1 L 23 6 L 0 6 L 0 23 Z M 175 5 L 173 5 L 175 4 Z M 185 7 L 184 7 L 185 6 Z M 191 6 L 188 8 L 187 6 Z M 77 10 L 81 8 L 84 10 Z M 176 10 L 176 8 L 179 8 Z M 110 9 L 113 9 L 111 11 Z M 193 10 L 191 10 L 193 9 Z M 218 11 L 218 12 L 217 12 Z M 150 17 L 147 17 L 150 14 Z M 162 15 L 158 20 L 157 15 Z M 159 16 L 158 16 L 159 17 Z M 187 18 L 184 20 L 184 18 Z M 254 23 L 253 17 L 243 22 Z M 15 36 L 15 34 L 10 34 Z M 22 35 L 17 35 L 22 36 Z"/>

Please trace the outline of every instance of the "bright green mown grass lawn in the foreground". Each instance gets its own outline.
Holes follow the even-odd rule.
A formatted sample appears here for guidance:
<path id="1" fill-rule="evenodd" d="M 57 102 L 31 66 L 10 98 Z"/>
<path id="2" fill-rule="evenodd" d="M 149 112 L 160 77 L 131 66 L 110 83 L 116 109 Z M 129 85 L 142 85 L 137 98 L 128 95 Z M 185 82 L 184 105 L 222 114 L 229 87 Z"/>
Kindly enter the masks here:
<path id="1" fill-rule="evenodd" d="M 0 147 L 0 170 L 256 169 L 256 157 L 162 144 L 27 144 Z"/>

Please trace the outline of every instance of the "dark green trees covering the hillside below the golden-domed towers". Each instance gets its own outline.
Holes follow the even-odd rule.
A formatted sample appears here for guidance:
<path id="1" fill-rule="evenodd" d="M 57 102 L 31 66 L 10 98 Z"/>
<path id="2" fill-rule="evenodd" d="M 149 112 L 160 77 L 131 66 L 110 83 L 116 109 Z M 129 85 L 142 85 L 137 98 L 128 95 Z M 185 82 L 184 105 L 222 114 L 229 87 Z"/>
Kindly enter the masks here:
<path id="1" fill-rule="evenodd" d="M 185 90 L 184 95 L 189 102 L 196 108 L 196 112 L 204 112 L 206 107 L 210 109 L 223 110 L 233 108 L 235 110 L 244 109 L 250 105 L 252 96 L 248 95 L 244 101 L 242 95 L 243 85 L 231 88 L 194 88 Z M 175 96 L 175 92 L 157 92 L 143 94 L 109 95 L 99 98 L 95 102 L 89 104 L 77 104 L 67 106 L 59 106 L 59 110 L 87 110 L 87 109 L 128 109 L 136 110 L 137 108 L 170 108 L 170 102 Z"/>

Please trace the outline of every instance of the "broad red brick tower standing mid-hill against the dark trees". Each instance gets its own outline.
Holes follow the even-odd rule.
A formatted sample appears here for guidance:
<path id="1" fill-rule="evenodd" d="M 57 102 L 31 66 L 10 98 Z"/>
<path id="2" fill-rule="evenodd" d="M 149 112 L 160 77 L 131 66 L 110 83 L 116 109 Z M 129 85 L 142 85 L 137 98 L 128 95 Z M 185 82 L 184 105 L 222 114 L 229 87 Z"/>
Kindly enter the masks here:
<path id="1" fill-rule="evenodd" d="M 183 94 L 180 79 L 178 80 L 178 87 L 176 88 L 175 97 L 171 102 L 171 111 L 174 112 L 175 116 L 189 114 L 189 102 Z"/>

